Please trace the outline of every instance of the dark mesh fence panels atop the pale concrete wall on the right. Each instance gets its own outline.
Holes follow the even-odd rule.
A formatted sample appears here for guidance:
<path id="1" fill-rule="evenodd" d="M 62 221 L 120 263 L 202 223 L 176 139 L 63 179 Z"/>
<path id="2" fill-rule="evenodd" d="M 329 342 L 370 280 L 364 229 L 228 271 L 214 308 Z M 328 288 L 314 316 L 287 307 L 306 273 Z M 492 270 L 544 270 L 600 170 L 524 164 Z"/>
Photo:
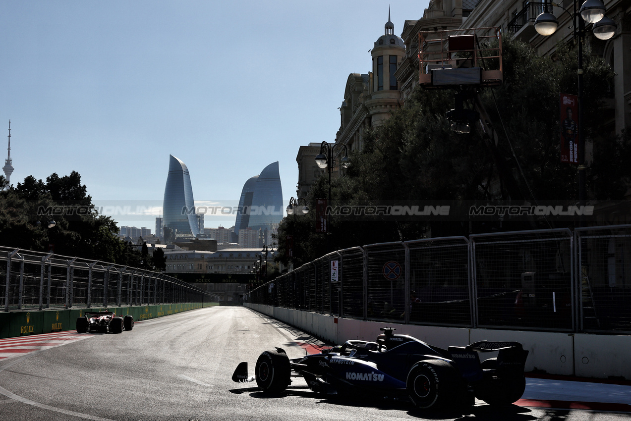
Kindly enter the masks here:
<path id="1" fill-rule="evenodd" d="M 631 333 L 631 225 L 354 247 L 246 299 L 418 325 Z"/>

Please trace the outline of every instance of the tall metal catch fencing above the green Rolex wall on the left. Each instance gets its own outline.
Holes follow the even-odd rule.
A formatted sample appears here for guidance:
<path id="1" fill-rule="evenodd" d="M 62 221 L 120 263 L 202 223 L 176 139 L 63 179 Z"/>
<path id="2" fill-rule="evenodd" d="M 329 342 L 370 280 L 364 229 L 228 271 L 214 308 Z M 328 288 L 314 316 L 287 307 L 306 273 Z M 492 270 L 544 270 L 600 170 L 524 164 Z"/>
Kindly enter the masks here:
<path id="1" fill-rule="evenodd" d="M 160 272 L 0 247 L 4 311 L 211 301 L 218 297 Z"/>

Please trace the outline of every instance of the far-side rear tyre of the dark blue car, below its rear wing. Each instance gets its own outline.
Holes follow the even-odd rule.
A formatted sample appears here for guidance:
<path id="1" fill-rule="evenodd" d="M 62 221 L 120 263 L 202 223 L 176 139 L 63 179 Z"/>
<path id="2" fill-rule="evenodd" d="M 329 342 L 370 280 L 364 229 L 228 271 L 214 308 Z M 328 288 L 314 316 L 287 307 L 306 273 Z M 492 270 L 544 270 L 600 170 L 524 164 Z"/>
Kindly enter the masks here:
<path id="1" fill-rule="evenodd" d="M 483 370 L 497 370 L 499 366 L 497 358 L 483 361 L 480 366 Z M 485 373 L 485 380 L 476 393 L 476 397 L 494 406 L 506 406 L 516 402 L 524 395 L 526 378 L 514 376 L 511 378 L 492 378 L 490 373 Z"/>

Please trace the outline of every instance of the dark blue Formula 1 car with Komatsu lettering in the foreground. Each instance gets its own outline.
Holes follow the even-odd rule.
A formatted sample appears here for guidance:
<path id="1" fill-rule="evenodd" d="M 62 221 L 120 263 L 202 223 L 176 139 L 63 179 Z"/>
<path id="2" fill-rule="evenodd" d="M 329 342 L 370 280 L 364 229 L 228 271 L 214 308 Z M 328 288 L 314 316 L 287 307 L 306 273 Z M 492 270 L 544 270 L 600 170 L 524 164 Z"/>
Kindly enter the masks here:
<path id="1" fill-rule="evenodd" d="M 255 376 L 247 362 L 239 364 L 233 381 L 254 381 L 264 393 L 283 393 L 291 377 L 303 377 L 309 388 L 324 395 L 408 396 L 418 408 L 473 405 L 475 398 L 490 405 L 509 405 L 524 393 L 528 350 L 517 342 L 475 342 L 440 349 L 392 328 L 377 342 L 348 340 L 344 345 L 290 360 L 285 350 L 263 352 Z M 480 354 L 498 351 L 480 362 Z"/>

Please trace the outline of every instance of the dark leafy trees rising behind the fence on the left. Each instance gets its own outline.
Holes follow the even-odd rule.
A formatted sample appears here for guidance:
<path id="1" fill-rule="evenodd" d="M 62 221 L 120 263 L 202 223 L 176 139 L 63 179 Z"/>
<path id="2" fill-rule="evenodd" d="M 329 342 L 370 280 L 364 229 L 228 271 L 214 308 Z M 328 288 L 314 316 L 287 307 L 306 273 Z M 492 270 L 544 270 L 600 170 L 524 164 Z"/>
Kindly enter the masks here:
<path id="1" fill-rule="evenodd" d="M 49 221 L 56 225 L 49 228 Z M 54 251 L 104 262 L 138 266 L 138 250 L 118 238 L 116 222 L 99 215 L 76 171 L 46 181 L 27 176 L 0 192 L 0 245 Z"/>

